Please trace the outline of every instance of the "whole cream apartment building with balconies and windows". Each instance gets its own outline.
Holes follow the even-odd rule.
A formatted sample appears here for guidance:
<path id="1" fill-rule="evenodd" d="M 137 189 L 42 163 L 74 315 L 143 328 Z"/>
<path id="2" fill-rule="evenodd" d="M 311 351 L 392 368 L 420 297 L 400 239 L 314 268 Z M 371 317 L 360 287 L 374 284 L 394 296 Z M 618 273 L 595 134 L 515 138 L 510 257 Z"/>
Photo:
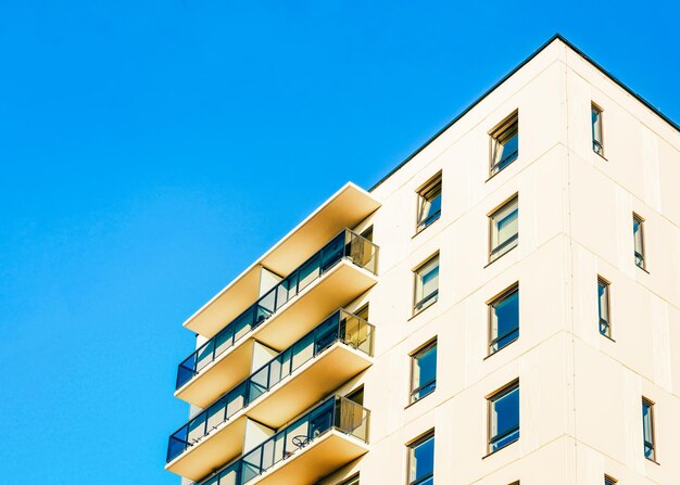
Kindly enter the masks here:
<path id="1" fill-rule="evenodd" d="M 679 127 L 554 37 L 185 322 L 166 469 L 680 483 L 679 182 Z"/>

